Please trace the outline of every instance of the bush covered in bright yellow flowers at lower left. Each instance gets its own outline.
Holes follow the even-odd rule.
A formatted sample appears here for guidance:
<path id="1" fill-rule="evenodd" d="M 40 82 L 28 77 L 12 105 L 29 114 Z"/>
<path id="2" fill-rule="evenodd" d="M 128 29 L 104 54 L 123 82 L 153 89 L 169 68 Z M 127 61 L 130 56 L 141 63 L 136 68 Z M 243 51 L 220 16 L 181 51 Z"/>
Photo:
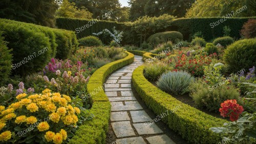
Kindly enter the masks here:
<path id="1" fill-rule="evenodd" d="M 2 142 L 62 143 L 84 121 L 84 110 L 73 106 L 69 96 L 49 89 L 41 94 L 19 94 L 8 107 L 0 106 L 0 111 Z"/>

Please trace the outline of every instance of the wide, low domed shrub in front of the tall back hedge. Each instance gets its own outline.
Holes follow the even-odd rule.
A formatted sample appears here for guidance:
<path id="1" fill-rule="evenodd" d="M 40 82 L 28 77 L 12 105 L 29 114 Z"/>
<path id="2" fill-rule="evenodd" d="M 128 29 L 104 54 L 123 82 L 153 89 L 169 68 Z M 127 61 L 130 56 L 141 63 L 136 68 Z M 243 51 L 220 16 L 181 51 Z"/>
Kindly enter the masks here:
<path id="1" fill-rule="evenodd" d="M 148 37 L 147 42 L 152 45 L 158 45 L 167 41 L 176 42 L 181 40 L 183 40 L 183 35 L 180 32 L 168 31 L 151 35 Z"/>

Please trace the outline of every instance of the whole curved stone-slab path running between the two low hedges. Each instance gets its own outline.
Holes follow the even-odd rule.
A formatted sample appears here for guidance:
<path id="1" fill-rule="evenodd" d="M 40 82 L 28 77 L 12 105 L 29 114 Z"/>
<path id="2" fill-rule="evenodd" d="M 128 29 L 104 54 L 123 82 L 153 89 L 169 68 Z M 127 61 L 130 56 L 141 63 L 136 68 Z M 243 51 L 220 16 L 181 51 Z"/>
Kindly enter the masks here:
<path id="1" fill-rule="evenodd" d="M 113 73 L 104 85 L 111 102 L 111 125 L 117 137 L 113 143 L 168 143 L 174 144 L 143 110 L 133 95 L 131 80 L 133 71 L 142 65 L 142 56 L 135 55 L 134 62 Z M 156 118 L 153 118 L 156 119 Z"/>

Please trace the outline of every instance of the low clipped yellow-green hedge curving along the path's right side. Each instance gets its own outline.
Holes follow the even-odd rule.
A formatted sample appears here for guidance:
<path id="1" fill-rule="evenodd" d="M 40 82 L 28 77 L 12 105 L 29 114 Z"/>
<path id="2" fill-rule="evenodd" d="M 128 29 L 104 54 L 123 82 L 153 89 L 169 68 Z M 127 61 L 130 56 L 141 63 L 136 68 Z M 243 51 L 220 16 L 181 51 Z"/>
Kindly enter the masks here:
<path id="1" fill-rule="evenodd" d="M 155 87 L 143 76 L 144 66 L 140 66 L 133 72 L 133 85 L 145 104 L 157 115 L 172 111 L 162 121 L 169 128 L 176 131 L 183 138 L 193 143 L 216 143 L 221 142 L 221 135 L 213 133 L 209 128 L 221 127 L 226 120 L 215 118 L 194 107 L 182 103 L 169 94 Z M 180 107 L 180 108 L 177 108 Z"/>

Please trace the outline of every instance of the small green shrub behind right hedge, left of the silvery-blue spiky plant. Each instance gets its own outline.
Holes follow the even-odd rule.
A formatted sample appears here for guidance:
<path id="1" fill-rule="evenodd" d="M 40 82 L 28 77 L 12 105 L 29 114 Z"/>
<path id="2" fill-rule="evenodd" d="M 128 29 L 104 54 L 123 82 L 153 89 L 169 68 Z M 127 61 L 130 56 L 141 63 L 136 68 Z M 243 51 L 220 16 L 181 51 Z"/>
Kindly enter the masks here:
<path id="1" fill-rule="evenodd" d="M 144 69 L 144 76 L 149 80 L 156 81 L 166 69 L 166 65 L 160 62 L 149 64 Z"/>

